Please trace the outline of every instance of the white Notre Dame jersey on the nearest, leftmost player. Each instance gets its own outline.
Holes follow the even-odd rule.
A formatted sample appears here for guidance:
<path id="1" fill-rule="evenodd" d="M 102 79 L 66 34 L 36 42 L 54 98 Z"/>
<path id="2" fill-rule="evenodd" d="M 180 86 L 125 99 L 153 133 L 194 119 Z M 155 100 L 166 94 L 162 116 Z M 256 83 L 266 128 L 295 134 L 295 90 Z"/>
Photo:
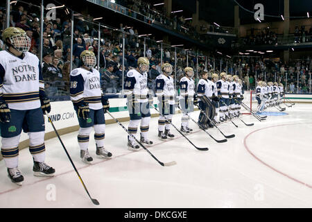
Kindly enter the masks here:
<path id="1" fill-rule="evenodd" d="M 40 90 L 44 91 L 44 81 L 37 56 L 26 52 L 24 58 L 19 58 L 8 51 L 0 51 L 0 96 L 8 103 L 8 108 L 40 108 Z"/>

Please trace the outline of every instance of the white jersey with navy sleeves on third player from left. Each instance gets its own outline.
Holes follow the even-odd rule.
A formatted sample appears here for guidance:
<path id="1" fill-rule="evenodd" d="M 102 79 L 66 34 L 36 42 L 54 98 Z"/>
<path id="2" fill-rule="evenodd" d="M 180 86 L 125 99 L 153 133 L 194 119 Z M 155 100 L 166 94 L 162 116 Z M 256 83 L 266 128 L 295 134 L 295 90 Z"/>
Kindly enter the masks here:
<path id="1" fill-rule="evenodd" d="M 136 69 L 128 71 L 125 77 L 124 92 L 126 95 L 135 95 L 135 98 L 140 103 L 148 102 L 148 86 L 147 86 L 147 74 L 140 74 Z"/>

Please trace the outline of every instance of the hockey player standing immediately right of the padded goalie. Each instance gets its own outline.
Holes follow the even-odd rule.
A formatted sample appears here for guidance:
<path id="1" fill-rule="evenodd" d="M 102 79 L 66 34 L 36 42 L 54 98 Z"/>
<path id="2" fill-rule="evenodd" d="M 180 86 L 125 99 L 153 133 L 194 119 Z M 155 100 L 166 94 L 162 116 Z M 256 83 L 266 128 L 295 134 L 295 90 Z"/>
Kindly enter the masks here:
<path id="1" fill-rule="evenodd" d="M 227 108 L 229 104 L 229 83 L 227 82 L 227 74 L 225 72 L 220 73 L 220 80 L 216 82 L 218 89 L 218 96 L 220 98 L 220 121 L 225 121 L 225 114 L 229 112 Z"/>

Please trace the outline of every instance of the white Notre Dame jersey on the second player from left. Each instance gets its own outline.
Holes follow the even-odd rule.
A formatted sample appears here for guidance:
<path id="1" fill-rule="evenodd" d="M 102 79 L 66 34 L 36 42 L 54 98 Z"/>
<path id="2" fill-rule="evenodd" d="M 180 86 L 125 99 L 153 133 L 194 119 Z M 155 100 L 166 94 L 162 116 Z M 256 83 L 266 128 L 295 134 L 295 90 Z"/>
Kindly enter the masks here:
<path id="1" fill-rule="evenodd" d="M 71 81 L 71 101 L 74 105 L 80 101 L 85 101 L 89 103 L 89 108 L 92 110 L 103 108 L 100 73 L 98 70 L 77 68 L 71 71 L 69 77 Z"/>

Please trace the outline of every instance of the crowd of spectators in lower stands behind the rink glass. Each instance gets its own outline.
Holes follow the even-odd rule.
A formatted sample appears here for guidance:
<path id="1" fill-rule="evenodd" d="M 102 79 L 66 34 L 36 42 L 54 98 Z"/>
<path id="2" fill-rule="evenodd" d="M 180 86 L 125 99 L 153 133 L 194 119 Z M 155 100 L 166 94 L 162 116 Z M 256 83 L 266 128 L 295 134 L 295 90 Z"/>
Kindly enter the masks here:
<path id="1" fill-rule="evenodd" d="M 133 2 L 132 0 L 125 0 Z M 37 13 L 37 14 L 36 14 Z M 28 8 L 17 6 L 12 8 L 10 13 L 10 26 L 16 26 L 24 29 L 26 34 L 31 39 L 30 52 L 38 57 L 40 56 L 40 24 L 39 13 L 28 11 Z M 89 17 L 89 16 L 88 16 Z M 92 20 L 92 19 L 90 19 Z M 3 10 L 0 10 L 0 30 L 4 26 Z M 134 27 L 127 27 L 120 24 L 119 30 L 112 30 L 109 28 L 103 29 L 101 33 L 101 40 L 97 39 L 98 33 L 92 27 L 92 24 L 87 24 L 83 19 L 76 19 L 74 22 L 73 34 L 73 52 L 71 53 L 71 22 L 69 19 L 56 18 L 49 20 L 44 18 L 43 31 L 43 49 L 42 49 L 42 71 L 45 82 L 45 89 L 51 100 L 62 98 L 62 96 L 69 96 L 69 73 L 70 64 L 72 60 L 72 69 L 80 66 L 80 53 L 84 50 L 93 51 L 96 56 L 99 54 L 99 69 L 101 73 L 101 85 L 104 93 L 118 93 L 121 92 L 123 79 L 128 70 L 137 67 L 137 59 L 144 56 L 144 39 L 138 37 L 138 33 Z M 120 31 L 126 31 L 125 34 L 125 51 L 123 59 L 122 40 L 123 35 Z M 0 48 L 5 49 L 3 42 L 0 40 Z M 174 66 L 173 71 L 176 70 L 175 78 L 176 85 L 180 78 L 184 75 L 184 67 L 193 67 L 196 74 L 204 69 L 212 71 L 212 60 L 202 56 L 199 53 L 198 66 L 196 66 L 196 53 L 178 49 L 175 60 L 175 48 L 165 46 L 163 44 L 163 57 L 161 58 L 161 46 L 153 40 L 146 40 L 146 57 L 150 61 L 150 70 L 148 71 L 148 85 L 155 90 L 155 78 L 161 73 L 161 61 L 169 62 Z M 175 68 L 176 61 L 176 68 Z M 207 67 L 205 66 L 207 62 Z M 220 62 L 223 62 L 220 67 Z M 297 84 L 297 72 L 300 73 L 300 89 L 299 92 L 308 92 L 309 84 L 306 76 L 311 71 L 312 62 L 302 61 L 298 64 L 281 64 L 275 63 L 274 66 L 268 66 L 263 60 L 230 60 L 225 66 L 224 61 L 216 60 L 214 72 L 227 71 L 230 74 L 238 74 L 243 78 L 245 87 L 254 88 L 255 82 L 259 78 L 264 79 L 263 74 L 266 73 L 266 79 L 275 78 L 275 72 L 278 76 L 278 81 L 285 83 L 285 72 L 288 72 L 288 89 L 293 89 L 295 92 Z M 219 68 L 220 67 L 220 68 Z M 227 69 L 226 69 L 227 67 Z M 123 72 L 124 69 L 124 72 Z M 247 77 L 246 77 L 247 76 Z M 254 80 L 257 76 L 257 80 Z M 248 78 L 248 80 L 247 80 Z M 195 76 L 196 83 L 198 76 Z M 284 81 L 284 82 L 283 82 Z M 294 88 L 292 88 L 293 83 Z M 65 98 L 64 98 L 65 99 Z M 68 99 L 68 98 L 67 98 Z"/>

